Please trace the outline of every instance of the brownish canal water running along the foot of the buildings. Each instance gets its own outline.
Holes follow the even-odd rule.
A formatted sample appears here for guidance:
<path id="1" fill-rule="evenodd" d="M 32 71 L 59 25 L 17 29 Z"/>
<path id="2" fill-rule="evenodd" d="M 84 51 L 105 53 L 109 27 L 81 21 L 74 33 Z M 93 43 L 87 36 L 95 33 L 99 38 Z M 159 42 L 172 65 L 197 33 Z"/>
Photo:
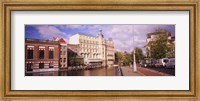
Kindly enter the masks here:
<path id="1" fill-rule="evenodd" d="M 90 70 L 26 73 L 26 76 L 122 76 L 118 67 L 101 67 Z"/>

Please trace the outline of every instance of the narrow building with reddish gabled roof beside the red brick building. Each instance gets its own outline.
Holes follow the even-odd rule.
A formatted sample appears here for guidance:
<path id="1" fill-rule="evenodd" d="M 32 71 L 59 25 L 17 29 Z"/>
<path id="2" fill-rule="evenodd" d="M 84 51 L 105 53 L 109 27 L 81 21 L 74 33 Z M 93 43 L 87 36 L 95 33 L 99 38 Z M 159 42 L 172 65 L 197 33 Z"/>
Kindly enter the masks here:
<path id="1" fill-rule="evenodd" d="M 60 59 L 59 59 L 59 61 L 60 61 L 60 64 L 59 64 L 59 67 L 60 68 L 67 68 L 67 66 L 68 66 L 68 63 L 67 63 L 67 61 L 68 61 L 68 49 L 67 49 L 67 43 L 65 42 L 65 40 L 63 39 L 63 38 L 54 38 L 53 39 L 54 41 L 57 41 L 57 42 L 59 42 L 60 43 L 60 53 L 59 53 L 59 57 L 60 57 Z"/>

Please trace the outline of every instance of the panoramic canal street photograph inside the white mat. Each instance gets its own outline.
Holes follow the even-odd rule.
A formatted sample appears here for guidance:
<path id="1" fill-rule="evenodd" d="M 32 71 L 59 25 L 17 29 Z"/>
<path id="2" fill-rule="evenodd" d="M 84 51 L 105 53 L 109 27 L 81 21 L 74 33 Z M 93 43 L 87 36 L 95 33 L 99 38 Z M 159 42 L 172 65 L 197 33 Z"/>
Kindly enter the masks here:
<path id="1" fill-rule="evenodd" d="M 175 76 L 173 24 L 24 27 L 25 76 Z"/>

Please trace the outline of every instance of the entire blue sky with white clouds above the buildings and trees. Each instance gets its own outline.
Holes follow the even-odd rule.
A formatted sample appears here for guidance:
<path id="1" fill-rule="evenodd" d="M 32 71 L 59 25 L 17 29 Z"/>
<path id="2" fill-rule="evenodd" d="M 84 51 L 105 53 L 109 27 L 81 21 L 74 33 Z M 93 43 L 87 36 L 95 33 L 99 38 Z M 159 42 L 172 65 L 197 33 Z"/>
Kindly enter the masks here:
<path id="1" fill-rule="evenodd" d="M 161 28 L 171 32 L 175 36 L 175 25 L 25 25 L 25 37 L 33 39 L 64 38 L 68 42 L 69 37 L 77 33 L 97 36 L 99 30 L 103 31 L 106 39 L 112 38 L 115 49 L 118 51 L 131 51 L 133 46 L 144 49 L 146 34 Z M 134 39 L 134 43 L 133 43 Z"/>

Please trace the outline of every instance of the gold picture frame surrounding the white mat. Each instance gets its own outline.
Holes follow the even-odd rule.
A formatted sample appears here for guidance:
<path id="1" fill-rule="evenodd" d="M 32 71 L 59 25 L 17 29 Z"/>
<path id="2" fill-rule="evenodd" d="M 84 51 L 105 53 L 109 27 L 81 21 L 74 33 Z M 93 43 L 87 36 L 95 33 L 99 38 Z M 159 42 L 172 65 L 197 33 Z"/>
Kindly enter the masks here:
<path id="1" fill-rule="evenodd" d="M 200 33 L 200 1 L 199 0 L 4 0 L 1 2 L 1 34 L 0 34 L 0 85 L 1 99 L 41 98 L 43 100 L 199 100 L 199 44 Z M 190 33 L 190 71 L 189 89 L 187 91 L 13 91 L 11 90 L 11 11 L 62 11 L 62 10 L 113 10 L 113 11 L 189 11 Z M 92 97 L 92 98 L 90 98 Z M 50 99 L 53 98 L 53 99 Z M 55 99 L 54 99 L 55 98 Z M 58 99 L 57 99 L 58 98 Z M 147 99 L 148 98 L 148 99 Z"/>

